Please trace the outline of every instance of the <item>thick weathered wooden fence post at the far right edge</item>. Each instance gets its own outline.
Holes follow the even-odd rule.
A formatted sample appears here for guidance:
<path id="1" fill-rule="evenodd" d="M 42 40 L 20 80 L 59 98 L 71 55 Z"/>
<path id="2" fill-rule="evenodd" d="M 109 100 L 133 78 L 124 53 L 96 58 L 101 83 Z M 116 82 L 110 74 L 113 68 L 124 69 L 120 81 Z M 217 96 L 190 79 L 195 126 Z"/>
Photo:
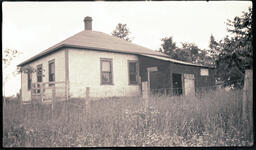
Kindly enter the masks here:
<path id="1" fill-rule="evenodd" d="M 242 120 L 246 123 L 247 135 L 252 133 L 253 128 L 253 72 L 252 70 L 245 70 L 243 101 L 242 101 Z"/>

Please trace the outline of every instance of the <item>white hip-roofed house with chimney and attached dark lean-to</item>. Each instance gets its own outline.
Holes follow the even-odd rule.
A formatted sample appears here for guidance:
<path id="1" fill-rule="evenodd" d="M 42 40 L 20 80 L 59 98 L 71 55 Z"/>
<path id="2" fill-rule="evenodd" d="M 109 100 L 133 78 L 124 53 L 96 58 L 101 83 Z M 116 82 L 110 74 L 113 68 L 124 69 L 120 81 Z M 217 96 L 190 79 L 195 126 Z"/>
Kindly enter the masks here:
<path id="1" fill-rule="evenodd" d="M 37 70 L 21 73 L 22 101 L 42 92 L 66 98 L 140 96 L 148 77 L 151 89 L 173 88 L 178 94 L 195 93 L 197 87 L 215 84 L 214 68 L 170 59 L 93 31 L 91 17 L 85 17 L 84 27 L 18 65 Z"/>

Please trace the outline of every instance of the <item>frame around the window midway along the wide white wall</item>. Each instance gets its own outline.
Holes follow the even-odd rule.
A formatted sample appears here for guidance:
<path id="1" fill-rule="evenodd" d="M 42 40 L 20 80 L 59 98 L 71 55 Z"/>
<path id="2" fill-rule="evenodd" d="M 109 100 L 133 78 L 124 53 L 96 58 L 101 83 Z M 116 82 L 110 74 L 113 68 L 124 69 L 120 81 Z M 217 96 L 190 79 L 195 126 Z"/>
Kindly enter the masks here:
<path id="1" fill-rule="evenodd" d="M 102 71 L 102 62 L 110 62 L 110 82 L 103 82 L 103 72 Z M 100 58 L 100 84 L 101 85 L 114 85 L 114 76 L 113 76 L 113 59 L 112 58 Z"/>

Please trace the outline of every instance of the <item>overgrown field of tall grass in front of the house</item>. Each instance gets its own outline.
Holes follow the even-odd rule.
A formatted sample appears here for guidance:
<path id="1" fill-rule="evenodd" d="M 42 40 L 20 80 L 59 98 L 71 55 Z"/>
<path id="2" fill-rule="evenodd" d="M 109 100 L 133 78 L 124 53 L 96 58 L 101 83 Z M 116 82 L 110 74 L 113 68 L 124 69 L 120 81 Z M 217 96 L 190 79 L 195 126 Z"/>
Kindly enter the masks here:
<path id="1" fill-rule="evenodd" d="M 242 91 L 196 97 L 72 100 L 55 105 L 9 103 L 4 147 L 251 146 L 241 120 Z M 74 105 L 75 104 L 75 105 Z"/>

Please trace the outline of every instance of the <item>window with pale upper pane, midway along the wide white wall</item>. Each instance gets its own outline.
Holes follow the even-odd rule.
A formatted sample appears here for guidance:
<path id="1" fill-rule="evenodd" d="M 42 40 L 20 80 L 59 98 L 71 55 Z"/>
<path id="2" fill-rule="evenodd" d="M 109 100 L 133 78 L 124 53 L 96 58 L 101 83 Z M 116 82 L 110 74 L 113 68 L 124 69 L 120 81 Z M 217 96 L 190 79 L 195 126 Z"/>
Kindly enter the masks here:
<path id="1" fill-rule="evenodd" d="M 101 84 L 113 84 L 112 82 L 112 59 L 101 59 Z"/>

